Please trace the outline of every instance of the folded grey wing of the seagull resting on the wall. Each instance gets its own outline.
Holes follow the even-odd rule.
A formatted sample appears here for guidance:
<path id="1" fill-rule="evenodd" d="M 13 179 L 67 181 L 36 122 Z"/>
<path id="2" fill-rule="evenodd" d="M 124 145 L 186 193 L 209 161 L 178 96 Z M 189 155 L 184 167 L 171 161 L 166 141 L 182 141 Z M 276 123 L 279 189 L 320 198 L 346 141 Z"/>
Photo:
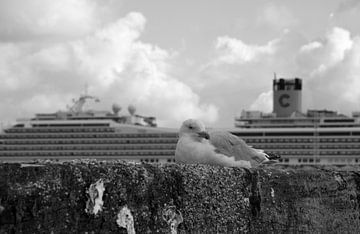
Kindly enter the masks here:
<path id="1" fill-rule="evenodd" d="M 242 139 L 229 132 L 210 132 L 210 142 L 217 153 L 235 157 L 235 160 L 250 161 L 252 165 L 258 165 L 267 160 L 265 153 L 261 150 L 248 146 Z"/>

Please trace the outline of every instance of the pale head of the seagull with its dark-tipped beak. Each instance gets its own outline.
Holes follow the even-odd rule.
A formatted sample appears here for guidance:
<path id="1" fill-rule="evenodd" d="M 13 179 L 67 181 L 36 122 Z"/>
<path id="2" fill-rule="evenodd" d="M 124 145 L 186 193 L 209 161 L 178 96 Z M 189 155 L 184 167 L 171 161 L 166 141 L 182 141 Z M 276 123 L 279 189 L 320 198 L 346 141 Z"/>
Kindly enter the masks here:
<path id="1" fill-rule="evenodd" d="M 188 119 L 181 125 L 179 136 L 189 136 L 195 140 L 209 139 L 209 133 L 205 130 L 205 125 L 196 119 Z"/>

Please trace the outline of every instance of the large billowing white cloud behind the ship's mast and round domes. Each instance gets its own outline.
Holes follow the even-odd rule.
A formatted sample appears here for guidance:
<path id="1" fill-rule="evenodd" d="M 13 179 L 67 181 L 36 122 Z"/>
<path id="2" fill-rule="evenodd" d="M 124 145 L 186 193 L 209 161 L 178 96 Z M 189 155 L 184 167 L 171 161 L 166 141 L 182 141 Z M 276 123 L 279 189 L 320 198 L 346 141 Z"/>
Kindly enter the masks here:
<path id="1" fill-rule="evenodd" d="M 0 97 L 8 104 L 0 106 L 3 118 L 64 109 L 88 84 L 103 109 L 113 102 L 135 104 L 139 114 L 156 116 L 162 126 L 189 117 L 216 121 L 217 107 L 202 103 L 170 75 L 173 55 L 139 39 L 145 24 L 145 17 L 133 12 L 76 40 L 0 43 L 0 80 L 6 84 Z"/>

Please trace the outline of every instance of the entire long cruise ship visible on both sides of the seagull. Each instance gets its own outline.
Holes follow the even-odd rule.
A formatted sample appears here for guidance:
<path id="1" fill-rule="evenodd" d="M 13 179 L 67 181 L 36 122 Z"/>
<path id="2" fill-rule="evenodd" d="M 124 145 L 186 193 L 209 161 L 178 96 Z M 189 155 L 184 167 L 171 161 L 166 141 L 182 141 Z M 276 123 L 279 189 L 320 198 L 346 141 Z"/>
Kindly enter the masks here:
<path id="1" fill-rule="evenodd" d="M 227 128 L 254 148 L 281 155 L 280 163 L 360 164 L 360 112 L 351 117 L 330 110 L 301 110 L 302 80 L 273 80 L 273 112 L 243 110 Z M 0 133 L 0 162 L 39 159 L 174 162 L 178 129 L 157 127 L 155 117 L 84 110 L 87 94 L 67 111 L 19 119 Z"/>

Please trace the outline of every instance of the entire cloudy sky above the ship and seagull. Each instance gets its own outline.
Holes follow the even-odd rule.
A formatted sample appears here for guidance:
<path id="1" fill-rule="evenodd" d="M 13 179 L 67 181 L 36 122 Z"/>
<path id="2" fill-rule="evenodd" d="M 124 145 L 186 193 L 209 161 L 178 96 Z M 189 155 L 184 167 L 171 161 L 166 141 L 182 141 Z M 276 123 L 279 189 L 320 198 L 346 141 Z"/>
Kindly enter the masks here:
<path id="1" fill-rule="evenodd" d="M 360 110 L 359 0 L 0 0 L 0 120 L 91 108 L 231 127 L 272 111 L 274 72 L 303 110 Z M 89 107 L 89 108 L 90 108 Z"/>

